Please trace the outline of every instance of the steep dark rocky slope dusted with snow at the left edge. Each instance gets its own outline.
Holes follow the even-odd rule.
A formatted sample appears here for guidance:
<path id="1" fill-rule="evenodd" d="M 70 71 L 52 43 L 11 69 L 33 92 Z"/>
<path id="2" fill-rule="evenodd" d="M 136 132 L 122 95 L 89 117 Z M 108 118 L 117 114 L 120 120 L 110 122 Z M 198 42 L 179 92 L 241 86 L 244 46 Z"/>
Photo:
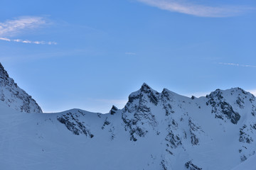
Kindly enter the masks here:
<path id="1" fill-rule="evenodd" d="M 38 103 L 26 91 L 19 88 L 14 79 L 9 77 L 0 63 L 0 102 L 16 111 L 25 113 L 42 113 Z"/>

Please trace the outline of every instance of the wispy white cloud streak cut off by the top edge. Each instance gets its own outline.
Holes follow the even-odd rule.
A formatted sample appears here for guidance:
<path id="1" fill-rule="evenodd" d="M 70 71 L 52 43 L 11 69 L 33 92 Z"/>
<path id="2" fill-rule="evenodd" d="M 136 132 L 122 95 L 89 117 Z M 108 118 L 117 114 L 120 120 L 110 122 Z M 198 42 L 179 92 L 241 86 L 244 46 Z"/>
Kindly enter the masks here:
<path id="1" fill-rule="evenodd" d="M 242 6 L 206 6 L 193 4 L 191 1 L 178 0 L 137 0 L 149 6 L 155 6 L 167 11 L 186 13 L 201 17 L 228 17 L 236 16 L 248 8 Z"/>

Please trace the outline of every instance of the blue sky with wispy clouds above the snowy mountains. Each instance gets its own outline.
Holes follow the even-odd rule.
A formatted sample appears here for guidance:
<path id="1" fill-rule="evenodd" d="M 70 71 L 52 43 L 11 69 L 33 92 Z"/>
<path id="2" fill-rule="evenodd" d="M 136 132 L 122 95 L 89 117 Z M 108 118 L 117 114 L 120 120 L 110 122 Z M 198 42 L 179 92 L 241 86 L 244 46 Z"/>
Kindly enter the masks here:
<path id="1" fill-rule="evenodd" d="M 256 91 L 255 0 L 0 2 L 0 62 L 43 111 L 122 108 L 143 82 Z"/>

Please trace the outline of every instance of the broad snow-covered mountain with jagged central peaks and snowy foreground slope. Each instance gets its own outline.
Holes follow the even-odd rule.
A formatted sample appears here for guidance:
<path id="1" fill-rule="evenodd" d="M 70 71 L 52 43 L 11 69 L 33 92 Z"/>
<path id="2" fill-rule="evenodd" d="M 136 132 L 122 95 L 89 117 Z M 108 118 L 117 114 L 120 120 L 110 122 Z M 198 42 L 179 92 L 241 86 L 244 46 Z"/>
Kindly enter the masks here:
<path id="1" fill-rule="evenodd" d="M 107 114 L 0 102 L 0 169 L 242 170 L 255 160 L 255 106 L 240 88 L 188 98 L 147 84 Z"/>

